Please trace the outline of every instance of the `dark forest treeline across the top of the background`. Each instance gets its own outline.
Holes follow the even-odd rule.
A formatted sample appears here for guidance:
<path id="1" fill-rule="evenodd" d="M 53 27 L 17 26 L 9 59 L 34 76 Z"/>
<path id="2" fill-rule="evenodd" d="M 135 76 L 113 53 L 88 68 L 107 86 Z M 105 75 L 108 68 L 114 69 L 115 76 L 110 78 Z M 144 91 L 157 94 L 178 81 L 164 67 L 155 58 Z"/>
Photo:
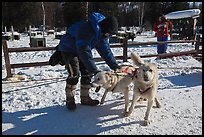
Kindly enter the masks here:
<path id="1" fill-rule="evenodd" d="M 199 8 L 195 2 L 192 5 L 194 7 L 190 7 L 189 2 L 88 2 L 88 13 L 95 11 L 105 16 L 114 15 L 119 26 L 148 24 L 152 27 L 161 14 Z M 44 2 L 44 6 L 46 25 L 51 28 L 69 27 L 87 18 L 87 2 Z M 202 3 L 200 9 L 202 11 Z M 15 30 L 23 31 L 29 25 L 38 27 L 42 23 L 41 2 L 2 2 L 2 27 L 7 26 L 8 31 L 11 25 Z M 202 12 L 198 24 L 202 24 Z"/>

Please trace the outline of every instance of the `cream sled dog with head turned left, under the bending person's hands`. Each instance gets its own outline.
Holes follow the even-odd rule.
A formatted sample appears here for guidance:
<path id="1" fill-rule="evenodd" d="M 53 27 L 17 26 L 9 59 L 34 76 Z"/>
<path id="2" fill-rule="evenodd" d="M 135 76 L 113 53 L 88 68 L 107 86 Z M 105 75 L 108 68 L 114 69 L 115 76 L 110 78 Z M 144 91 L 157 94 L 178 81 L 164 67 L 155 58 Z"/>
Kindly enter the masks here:
<path id="1" fill-rule="evenodd" d="M 105 92 L 102 96 L 100 104 L 103 104 L 108 92 L 123 92 L 125 98 L 124 113 L 127 112 L 129 104 L 129 85 L 132 82 L 132 74 L 135 71 L 133 66 L 121 65 L 117 72 L 101 71 L 94 76 L 92 82 L 93 87 L 103 87 Z M 97 90 L 99 90 L 98 88 Z"/>

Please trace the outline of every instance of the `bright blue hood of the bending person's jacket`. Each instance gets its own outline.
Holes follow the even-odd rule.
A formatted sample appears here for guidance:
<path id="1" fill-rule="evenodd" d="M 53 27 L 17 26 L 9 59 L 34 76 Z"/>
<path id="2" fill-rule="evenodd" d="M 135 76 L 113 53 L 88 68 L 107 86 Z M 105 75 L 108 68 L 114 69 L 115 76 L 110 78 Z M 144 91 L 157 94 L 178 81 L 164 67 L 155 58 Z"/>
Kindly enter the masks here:
<path id="1" fill-rule="evenodd" d="M 94 29 L 95 33 L 96 33 L 96 37 L 99 38 L 100 36 L 100 32 L 101 29 L 99 27 L 99 23 L 104 20 L 106 17 L 101 14 L 101 13 L 97 13 L 97 12 L 93 12 L 89 15 L 88 17 L 88 21 L 91 22 L 91 26 Z"/>

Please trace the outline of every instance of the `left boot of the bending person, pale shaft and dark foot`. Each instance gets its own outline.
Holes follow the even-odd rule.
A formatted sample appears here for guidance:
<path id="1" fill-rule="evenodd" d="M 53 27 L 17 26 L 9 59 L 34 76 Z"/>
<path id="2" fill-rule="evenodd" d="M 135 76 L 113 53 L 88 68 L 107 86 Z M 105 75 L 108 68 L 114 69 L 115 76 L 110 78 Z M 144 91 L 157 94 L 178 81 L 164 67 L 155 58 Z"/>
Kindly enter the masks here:
<path id="1" fill-rule="evenodd" d="M 67 84 L 65 91 L 66 91 L 66 107 L 67 109 L 74 111 L 76 109 L 76 104 L 74 99 L 76 85 Z"/>

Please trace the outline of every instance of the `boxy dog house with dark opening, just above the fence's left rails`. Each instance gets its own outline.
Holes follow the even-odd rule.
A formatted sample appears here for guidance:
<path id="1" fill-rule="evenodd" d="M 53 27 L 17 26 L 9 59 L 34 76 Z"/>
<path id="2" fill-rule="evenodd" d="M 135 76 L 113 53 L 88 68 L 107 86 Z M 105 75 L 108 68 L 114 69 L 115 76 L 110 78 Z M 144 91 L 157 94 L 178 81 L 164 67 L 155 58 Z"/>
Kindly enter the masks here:
<path id="1" fill-rule="evenodd" d="M 45 38 L 30 38 L 30 47 L 46 47 Z"/>

